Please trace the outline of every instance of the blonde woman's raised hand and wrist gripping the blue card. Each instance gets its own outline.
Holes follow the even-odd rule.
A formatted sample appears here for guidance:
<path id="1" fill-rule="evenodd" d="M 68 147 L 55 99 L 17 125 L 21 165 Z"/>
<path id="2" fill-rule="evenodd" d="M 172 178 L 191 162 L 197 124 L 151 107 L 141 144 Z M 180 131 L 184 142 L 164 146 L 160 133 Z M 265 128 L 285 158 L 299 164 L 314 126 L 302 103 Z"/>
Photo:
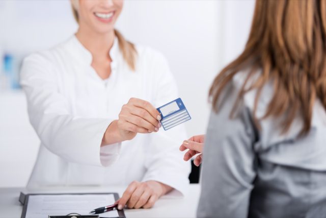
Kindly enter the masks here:
<path id="1" fill-rule="evenodd" d="M 160 119 L 159 112 L 149 102 L 131 98 L 122 106 L 119 119 L 106 129 L 101 146 L 130 140 L 137 133 L 157 132 Z"/>

